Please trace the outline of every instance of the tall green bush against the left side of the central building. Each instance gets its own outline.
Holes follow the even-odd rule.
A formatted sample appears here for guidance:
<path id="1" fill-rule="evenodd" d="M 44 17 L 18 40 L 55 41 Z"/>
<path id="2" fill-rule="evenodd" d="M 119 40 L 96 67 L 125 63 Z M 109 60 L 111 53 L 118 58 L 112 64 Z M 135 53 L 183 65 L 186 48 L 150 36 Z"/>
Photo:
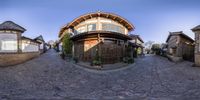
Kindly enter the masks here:
<path id="1" fill-rule="evenodd" d="M 63 37 L 63 52 L 66 55 L 72 54 L 72 41 L 70 40 L 70 35 L 67 33 Z"/>

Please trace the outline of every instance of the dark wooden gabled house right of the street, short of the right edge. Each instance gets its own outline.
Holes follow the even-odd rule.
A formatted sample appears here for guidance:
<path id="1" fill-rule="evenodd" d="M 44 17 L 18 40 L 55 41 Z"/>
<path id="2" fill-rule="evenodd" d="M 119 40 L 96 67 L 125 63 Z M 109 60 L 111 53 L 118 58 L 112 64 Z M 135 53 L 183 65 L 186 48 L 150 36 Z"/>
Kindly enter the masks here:
<path id="1" fill-rule="evenodd" d="M 182 31 L 170 32 L 166 43 L 169 55 L 179 60 L 194 60 L 194 40 Z"/>

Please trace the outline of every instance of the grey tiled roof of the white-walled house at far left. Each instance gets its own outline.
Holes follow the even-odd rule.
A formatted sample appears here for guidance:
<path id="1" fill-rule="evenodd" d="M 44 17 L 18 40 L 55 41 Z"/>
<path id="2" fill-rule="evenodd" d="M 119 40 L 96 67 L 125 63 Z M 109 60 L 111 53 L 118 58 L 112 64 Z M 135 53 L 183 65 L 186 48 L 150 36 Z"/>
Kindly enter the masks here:
<path id="1" fill-rule="evenodd" d="M 16 23 L 12 21 L 5 21 L 2 24 L 0 24 L 0 30 L 14 30 L 14 31 L 20 31 L 20 32 L 26 31 L 25 28 L 17 25 Z"/>

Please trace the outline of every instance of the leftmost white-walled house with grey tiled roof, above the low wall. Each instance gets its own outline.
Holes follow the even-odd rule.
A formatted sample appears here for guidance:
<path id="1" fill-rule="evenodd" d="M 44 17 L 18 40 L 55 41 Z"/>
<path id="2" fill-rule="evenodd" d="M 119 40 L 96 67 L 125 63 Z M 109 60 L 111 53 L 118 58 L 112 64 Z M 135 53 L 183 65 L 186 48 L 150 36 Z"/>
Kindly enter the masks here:
<path id="1" fill-rule="evenodd" d="M 20 52 L 21 34 L 26 31 L 23 27 L 6 21 L 0 24 L 0 52 L 1 53 L 17 53 Z"/>

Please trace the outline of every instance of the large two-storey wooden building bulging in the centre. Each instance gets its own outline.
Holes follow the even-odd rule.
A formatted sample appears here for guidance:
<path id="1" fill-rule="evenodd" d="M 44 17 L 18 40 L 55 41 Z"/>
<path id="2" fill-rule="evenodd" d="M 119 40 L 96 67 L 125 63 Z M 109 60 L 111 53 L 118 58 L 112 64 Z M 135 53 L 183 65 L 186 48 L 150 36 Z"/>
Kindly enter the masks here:
<path id="1" fill-rule="evenodd" d="M 60 40 L 71 34 L 73 56 L 90 62 L 99 55 L 103 63 L 120 62 L 127 56 L 128 36 L 134 26 L 119 15 L 94 12 L 79 16 L 65 25 L 59 33 Z"/>

